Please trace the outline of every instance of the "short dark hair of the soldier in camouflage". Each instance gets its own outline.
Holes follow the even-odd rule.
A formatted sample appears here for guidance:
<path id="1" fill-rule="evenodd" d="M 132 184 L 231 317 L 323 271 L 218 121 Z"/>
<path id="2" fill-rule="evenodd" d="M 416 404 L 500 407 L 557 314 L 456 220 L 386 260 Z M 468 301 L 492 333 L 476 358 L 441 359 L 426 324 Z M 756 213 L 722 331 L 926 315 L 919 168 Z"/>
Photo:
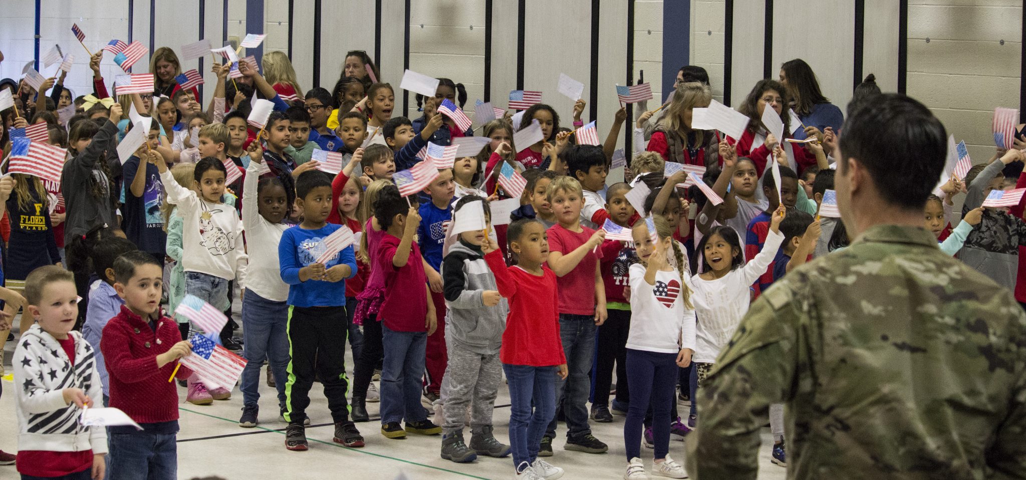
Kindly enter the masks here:
<path id="1" fill-rule="evenodd" d="M 849 110 L 840 137 L 841 174 L 844 159 L 854 158 L 869 171 L 884 201 L 922 210 L 944 169 L 944 125 L 925 106 L 900 93 L 884 93 Z"/>

